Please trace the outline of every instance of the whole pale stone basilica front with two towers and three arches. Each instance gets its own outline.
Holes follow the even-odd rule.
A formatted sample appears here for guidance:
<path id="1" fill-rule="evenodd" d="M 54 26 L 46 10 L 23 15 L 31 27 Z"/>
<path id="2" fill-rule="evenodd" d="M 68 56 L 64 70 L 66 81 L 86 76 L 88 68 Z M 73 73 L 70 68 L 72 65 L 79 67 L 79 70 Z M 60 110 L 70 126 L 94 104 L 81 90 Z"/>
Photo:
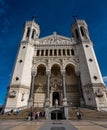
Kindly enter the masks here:
<path id="1" fill-rule="evenodd" d="M 87 24 L 75 19 L 72 37 L 39 38 L 40 28 L 27 21 L 8 87 L 5 112 L 28 107 L 44 108 L 68 117 L 72 106 L 107 111 L 107 93 Z"/>

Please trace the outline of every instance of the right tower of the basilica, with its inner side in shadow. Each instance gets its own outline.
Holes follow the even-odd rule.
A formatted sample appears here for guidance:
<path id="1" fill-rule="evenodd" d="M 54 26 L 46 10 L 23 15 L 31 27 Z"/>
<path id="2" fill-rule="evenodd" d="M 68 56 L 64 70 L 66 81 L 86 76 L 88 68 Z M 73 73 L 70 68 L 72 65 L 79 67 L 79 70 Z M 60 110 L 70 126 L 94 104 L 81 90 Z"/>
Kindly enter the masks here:
<path id="1" fill-rule="evenodd" d="M 105 86 L 86 22 L 75 18 L 71 32 L 76 41 L 76 55 L 79 60 L 78 75 L 81 80 L 84 104 L 90 108 L 104 110 L 105 106 L 107 107 Z"/>

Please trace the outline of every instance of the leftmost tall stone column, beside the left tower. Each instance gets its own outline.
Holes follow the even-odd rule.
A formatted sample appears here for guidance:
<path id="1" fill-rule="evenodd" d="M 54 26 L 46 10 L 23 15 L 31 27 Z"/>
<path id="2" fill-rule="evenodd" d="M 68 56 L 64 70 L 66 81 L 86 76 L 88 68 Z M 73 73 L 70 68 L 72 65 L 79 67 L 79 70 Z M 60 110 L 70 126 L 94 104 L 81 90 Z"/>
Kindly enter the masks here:
<path id="1" fill-rule="evenodd" d="M 36 72 L 35 70 L 32 70 L 31 72 L 31 88 L 30 88 L 30 96 L 29 96 L 29 101 L 28 101 L 28 106 L 29 107 L 33 107 L 33 92 L 34 92 L 34 83 L 35 83 L 35 76 L 36 76 Z"/>

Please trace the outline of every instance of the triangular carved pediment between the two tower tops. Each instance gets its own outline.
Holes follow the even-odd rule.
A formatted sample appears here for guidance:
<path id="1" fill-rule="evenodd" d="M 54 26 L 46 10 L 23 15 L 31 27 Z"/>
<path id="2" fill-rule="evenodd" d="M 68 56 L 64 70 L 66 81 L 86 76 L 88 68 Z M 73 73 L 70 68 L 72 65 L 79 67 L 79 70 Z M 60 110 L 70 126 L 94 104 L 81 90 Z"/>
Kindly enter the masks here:
<path id="1" fill-rule="evenodd" d="M 74 41 L 71 38 L 57 35 L 55 32 L 53 35 L 40 38 L 36 44 L 74 44 Z"/>

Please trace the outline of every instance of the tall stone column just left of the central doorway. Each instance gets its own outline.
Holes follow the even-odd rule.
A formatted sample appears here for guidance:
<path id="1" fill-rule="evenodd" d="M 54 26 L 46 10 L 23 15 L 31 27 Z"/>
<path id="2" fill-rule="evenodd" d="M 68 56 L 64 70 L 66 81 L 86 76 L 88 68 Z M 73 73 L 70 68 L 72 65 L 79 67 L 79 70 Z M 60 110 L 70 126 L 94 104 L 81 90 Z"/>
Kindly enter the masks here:
<path id="1" fill-rule="evenodd" d="M 49 107 L 50 107 L 50 70 L 46 70 L 46 85 L 47 85 L 47 90 L 46 90 L 46 101 L 45 101 L 45 117 L 46 119 L 49 118 Z"/>

